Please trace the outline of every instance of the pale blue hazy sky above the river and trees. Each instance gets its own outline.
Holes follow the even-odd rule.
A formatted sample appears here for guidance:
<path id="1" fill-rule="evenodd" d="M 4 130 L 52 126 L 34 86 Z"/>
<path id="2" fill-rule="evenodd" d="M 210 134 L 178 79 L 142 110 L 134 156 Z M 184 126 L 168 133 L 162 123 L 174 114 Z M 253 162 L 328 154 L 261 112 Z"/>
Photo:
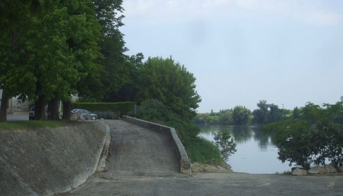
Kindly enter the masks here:
<path id="1" fill-rule="evenodd" d="M 127 54 L 185 65 L 200 113 L 343 96 L 343 0 L 124 0 L 123 8 Z"/>

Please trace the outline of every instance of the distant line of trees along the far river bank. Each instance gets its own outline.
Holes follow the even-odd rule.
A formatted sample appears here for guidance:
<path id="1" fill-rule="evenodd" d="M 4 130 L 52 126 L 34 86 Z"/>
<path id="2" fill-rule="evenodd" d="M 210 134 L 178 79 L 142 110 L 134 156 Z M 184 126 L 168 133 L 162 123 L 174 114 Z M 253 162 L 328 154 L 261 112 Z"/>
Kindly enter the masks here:
<path id="1" fill-rule="evenodd" d="M 219 112 L 197 114 L 194 122 L 197 124 L 267 124 L 290 118 L 292 111 L 280 109 L 277 105 L 268 104 L 266 100 L 257 103 L 258 109 L 250 111 L 245 106 L 237 105 L 233 109 L 223 109 Z M 296 112 L 296 111 L 295 111 Z"/>

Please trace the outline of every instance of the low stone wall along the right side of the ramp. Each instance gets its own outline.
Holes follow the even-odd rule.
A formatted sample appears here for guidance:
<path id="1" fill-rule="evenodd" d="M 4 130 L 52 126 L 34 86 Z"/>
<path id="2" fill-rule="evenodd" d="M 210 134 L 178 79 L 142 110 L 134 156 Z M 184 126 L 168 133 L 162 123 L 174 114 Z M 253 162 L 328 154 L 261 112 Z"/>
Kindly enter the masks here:
<path id="1" fill-rule="evenodd" d="M 123 116 L 123 121 L 133 123 L 139 126 L 142 126 L 144 128 L 148 128 L 150 130 L 163 133 L 165 135 L 168 135 L 169 138 L 172 140 L 172 144 L 174 146 L 174 150 L 180 160 L 180 172 L 185 174 L 191 174 L 191 159 L 188 158 L 187 152 L 185 150 L 185 147 L 182 145 L 179 137 L 176 134 L 176 131 L 174 128 L 165 126 L 162 124 L 157 123 L 151 123 L 148 121 L 143 121 L 140 119 L 132 118 L 129 116 Z"/>

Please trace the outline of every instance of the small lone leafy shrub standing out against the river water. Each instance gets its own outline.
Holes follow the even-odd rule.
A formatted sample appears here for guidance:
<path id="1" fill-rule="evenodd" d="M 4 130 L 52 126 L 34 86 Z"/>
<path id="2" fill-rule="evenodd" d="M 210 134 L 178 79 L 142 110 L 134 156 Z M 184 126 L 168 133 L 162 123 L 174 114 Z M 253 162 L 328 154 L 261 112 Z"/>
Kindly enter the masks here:
<path id="1" fill-rule="evenodd" d="M 213 135 L 215 145 L 220 149 L 221 158 L 227 161 L 229 159 L 229 156 L 237 151 L 237 145 L 233 141 L 233 138 L 231 138 L 230 131 L 228 129 L 224 129 L 221 130 L 221 132 L 213 133 Z"/>

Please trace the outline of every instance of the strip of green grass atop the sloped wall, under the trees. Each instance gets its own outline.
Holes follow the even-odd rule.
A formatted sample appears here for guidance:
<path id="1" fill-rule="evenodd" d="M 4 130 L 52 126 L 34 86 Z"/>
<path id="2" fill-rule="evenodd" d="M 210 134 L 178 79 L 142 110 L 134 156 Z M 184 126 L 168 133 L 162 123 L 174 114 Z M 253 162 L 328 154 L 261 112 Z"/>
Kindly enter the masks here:
<path id="1" fill-rule="evenodd" d="M 11 121 L 1 122 L 0 130 L 55 128 L 70 123 L 70 121 Z"/>

